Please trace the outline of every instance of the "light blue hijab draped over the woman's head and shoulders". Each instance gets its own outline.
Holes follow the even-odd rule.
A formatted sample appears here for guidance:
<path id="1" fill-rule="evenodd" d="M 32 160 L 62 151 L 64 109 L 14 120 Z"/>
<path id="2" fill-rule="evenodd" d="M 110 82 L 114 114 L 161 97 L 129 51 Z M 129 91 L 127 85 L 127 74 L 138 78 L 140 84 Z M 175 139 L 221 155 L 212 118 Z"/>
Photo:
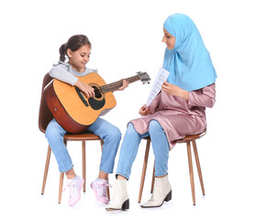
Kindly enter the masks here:
<path id="1" fill-rule="evenodd" d="M 190 17 L 174 14 L 163 24 L 175 37 L 174 49 L 165 49 L 163 68 L 167 82 L 186 91 L 201 89 L 216 81 L 217 74 L 203 39 Z"/>

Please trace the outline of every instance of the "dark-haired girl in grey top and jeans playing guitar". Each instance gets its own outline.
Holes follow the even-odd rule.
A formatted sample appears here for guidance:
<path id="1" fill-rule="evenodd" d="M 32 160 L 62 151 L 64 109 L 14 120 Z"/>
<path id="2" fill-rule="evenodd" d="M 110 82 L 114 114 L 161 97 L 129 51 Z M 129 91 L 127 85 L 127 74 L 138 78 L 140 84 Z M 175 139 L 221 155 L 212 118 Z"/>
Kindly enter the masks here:
<path id="1" fill-rule="evenodd" d="M 61 55 L 60 61 L 50 70 L 50 76 L 62 82 L 77 86 L 88 98 L 94 96 L 94 89 L 76 77 L 95 72 L 95 70 L 85 67 L 90 60 L 91 54 L 91 43 L 89 39 L 84 35 L 74 35 L 69 38 L 67 43 L 61 45 L 59 51 Z M 68 56 L 68 62 L 64 62 L 65 56 Z M 123 86 L 118 90 L 124 90 L 126 87 L 128 87 L 128 82 L 124 80 Z M 107 177 L 108 173 L 113 172 L 121 133 L 116 126 L 111 125 L 100 117 L 98 117 L 95 123 L 89 126 L 87 130 L 95 133 L 95 135 L 101 137 L 104 141 L 99 175 L 98 178 L 91 183 L 91 187 L 95 191 L 97 200 L 102 203 L 108 203 L 106 197 L 106 189 L 109 185 Z M 68 178 L 70 190 L 69 204 L 74 205 L 80 200 L 83 179 L 77 176 L 73 170 L 72 159 L 63 142 L 65 133 L 66 131 L 53 119 L 47 126 L 46 137 L 57 159 L 59 170 L 65 172 Z"/>

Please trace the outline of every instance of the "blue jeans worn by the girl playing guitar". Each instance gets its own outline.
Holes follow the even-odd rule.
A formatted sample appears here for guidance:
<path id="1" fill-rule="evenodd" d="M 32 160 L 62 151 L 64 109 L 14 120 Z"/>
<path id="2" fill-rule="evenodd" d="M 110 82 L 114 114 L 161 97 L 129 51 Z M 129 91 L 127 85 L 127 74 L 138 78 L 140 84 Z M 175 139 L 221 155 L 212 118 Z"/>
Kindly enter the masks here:
<path id="1" fill-rule="evenodd" d="M 111 125 L 106 120 L 98 117 L 94 124 L 87 128 L 88 132 L 101 137 L 104 141 L 100 163 L 100 171 L 112 173 L 117 155 L 117 148 L 121 139 L 120 130 L 117 126 Z M 47 137 L 50 148 L 58 162 L 59 170 L 66 172 L 72 170 L 72 159 L 68 149 L 63 142 L 66 131 L 57 123 L 55 119 L 47 126 L 45 137 Z"/>

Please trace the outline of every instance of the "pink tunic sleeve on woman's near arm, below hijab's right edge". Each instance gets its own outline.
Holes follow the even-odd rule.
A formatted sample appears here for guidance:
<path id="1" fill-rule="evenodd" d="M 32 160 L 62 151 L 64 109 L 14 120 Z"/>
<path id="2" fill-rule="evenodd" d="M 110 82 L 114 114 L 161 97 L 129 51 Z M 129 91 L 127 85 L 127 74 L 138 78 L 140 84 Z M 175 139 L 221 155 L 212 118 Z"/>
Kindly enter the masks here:
<path id="1" fill-rule="evenodd" d="M 213 107 L 215 104 L 215 83 L 203 89 L 189 92 L 188 104 L 200 107 Z"/>

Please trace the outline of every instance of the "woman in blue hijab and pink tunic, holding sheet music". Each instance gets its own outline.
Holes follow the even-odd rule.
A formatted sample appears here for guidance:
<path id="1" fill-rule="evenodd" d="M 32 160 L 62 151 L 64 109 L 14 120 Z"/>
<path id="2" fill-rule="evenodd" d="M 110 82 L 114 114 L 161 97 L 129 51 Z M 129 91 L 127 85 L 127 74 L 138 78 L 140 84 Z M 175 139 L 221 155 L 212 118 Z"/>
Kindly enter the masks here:
<path id="1" fill-rule="evenodd" d="M 216 71 L 198 29 L 190 17 L 174 14 L 163 24 L 167 46 L 163 68 L 170 71 L 167 82 L 150 106 L 143 105 L 143 117 L 128 123 L 117 165 L 112 203 L 106 209 L 128 209 L 127 180 L 142 137 L 150 136 L 157 177 L 153 194 L 142 208 L 159 207 L 172 199 L 168 181 L 169 150 L 175 140 L 198 134 L 206 128 L 206 107 L 215 104 Z"/>

